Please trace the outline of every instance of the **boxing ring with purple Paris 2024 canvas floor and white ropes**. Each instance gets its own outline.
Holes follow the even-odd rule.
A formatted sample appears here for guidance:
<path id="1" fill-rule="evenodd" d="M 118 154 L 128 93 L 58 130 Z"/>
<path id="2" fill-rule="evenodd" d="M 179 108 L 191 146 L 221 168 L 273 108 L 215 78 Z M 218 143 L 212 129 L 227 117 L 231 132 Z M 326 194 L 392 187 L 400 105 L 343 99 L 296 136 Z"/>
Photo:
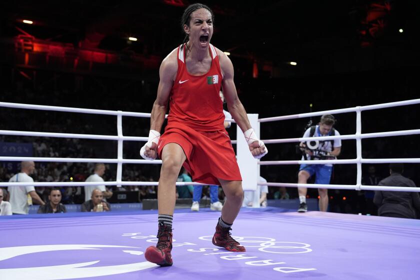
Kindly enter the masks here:
<path id="1" fill-rule="evenodd" d="M 361 139 L 420 134 L 420 129 L 361 133 L 361 112 L 418 104 L 420 99 L 357 106 L 280 117 L 260 122 L 356 113 L 355 134 L 288 139 L 266 139 L 265 144 L 306 140 L 355 139 L 356 158 L 334 160 L 255 160 L 258 165 L 356 164 L 355 185 L 331 184 L 328 188 L 355 190 L 420 191 L 415 187 L 361 184 L 362 163 L 420 162 L 420 158 L 362 158 Z M 122 135 L 122 117 L 150 117 L 149 113 L 94 110 L 0 102 L 0 107 L 114 115 L 117 135 L 93 135 L 0 130 L 3 135 L 87 138 L 117 141 L 117 158 L 9 157 L 0 161 L 116 163 L 115 181 L 105 182 L 0 182 L 0 186 L 157 185 L 157 182 L 122 181 L 122 164 L 160 164 L 160 160 L 122 157 L 123 141 L 147 141 L 147 137 Z M 254 125 L 254 124 L 253 124 Z M 255 128 L 255 127 L 254 127 Z M 257 127 L 259 130 L 259 126 Z M 239 138 L 239 135 L 238 135 Z M 237 144 L 239 145 L 240 139 Z M 235 143 L 236 141 L 232 141 Z M 248 151 L 249 153 L 249 151 Z M 249 155 L 249 154 L 248 154 Z M 239 160 L 239 158 L 238 158 Z M 240 162 L 239 162 L 240 163 Z M 255 174 L 258 172 L 255 171 Z M 177 182 L 177 185 L 191 184 Z M 262 184 L 262 183 L 261 183 Z M 316 184 L 268 182 L 269 186 L 311 187 Z M 254 181 L 254 188 L 257 182 Z M 420 222 L 415 219 L 362 216 L 311 211 L 284 212 L 281 208 L 242 208 L 233 224 L 233 235 L 246 247 L 237 253 L 216 248 L 211 236 L 219 216 L 208 208 L 199 212 L 175 209 L 171 267 L 145 261 L 143 252 L 156 242 L 157 211 L 64 213 L 58 215 L 1 216 L 0 279 L 417 279 L 420 275 Z"/>

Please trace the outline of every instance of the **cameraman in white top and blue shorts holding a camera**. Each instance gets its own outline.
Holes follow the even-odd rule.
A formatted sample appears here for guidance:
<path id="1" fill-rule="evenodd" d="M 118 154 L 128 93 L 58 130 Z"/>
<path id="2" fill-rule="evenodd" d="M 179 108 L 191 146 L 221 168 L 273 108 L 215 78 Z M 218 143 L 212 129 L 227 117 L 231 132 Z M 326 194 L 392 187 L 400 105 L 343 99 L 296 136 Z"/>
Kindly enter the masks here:
<path id="1" fill-rule="evenodd" d="M 335 118 L 331 114 L 324 114 L 318 125 L 306 129 L 303 137 L 333 136 L 340 133 L 333 128 Z M 303 153 L 303 159 L 335 159 L 341 151 L 341 140 L 305 141 L 300 142 L 299 148 Z M 332 164 L 301 164 L 297 175 L 297 183 L 306 183 L 315 174 L 315 184 L 329 184 L 332 173 Z M 306 212 L 306 187 L 298 187 L 300 205 L 298 212 Z M 328 193 L 326 188 L 318 188 L 319 210 L 326 211 L 328 208 Z"/>

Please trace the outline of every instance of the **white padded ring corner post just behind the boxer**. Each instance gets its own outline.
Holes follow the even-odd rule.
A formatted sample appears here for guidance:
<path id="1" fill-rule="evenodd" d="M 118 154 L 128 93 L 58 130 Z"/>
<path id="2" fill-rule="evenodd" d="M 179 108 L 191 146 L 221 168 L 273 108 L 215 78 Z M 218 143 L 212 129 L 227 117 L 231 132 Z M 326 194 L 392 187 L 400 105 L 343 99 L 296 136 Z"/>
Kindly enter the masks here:
<path id="1" fill-rule="evenodd" d="M 248 114 L 249 123 L 259 138 L 258 114 Z M 253 191 L 252 207 L 259 207 L 259 188 L 257 185 L 259 176 L 258 159 L 253 158 L 249 152 L 248 143 L 243 136 L 239 125 L 236 125 L 236 159 L 242 176 L 242 188 L 246 191 Z"/>

